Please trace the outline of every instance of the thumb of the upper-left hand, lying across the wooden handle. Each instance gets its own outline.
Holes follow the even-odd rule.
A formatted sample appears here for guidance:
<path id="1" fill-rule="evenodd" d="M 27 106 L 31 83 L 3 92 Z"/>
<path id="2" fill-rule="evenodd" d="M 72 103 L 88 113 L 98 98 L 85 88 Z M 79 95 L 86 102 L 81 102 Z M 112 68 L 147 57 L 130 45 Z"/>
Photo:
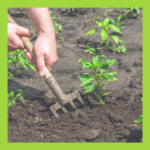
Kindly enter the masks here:
<path id="1" fill-rule="evenodd" d="M 29 29 L 23 28 L 23 27 L 20 27 L 20 26 L 17 27 L 16 34 L 27 36 L 27 37 L 32 37 L 33 36 L 33 34 L 29 31 Z"/>

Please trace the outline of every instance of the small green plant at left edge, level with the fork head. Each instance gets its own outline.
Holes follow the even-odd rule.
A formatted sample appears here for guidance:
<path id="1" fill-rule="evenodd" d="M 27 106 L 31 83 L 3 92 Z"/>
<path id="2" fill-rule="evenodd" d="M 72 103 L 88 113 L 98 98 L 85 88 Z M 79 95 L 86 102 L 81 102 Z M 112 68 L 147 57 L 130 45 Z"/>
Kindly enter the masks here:
<path id="1" fill-rule="evenodd" d="M 7 94 L 7 98 L 10 99 L 10 101 L 7 103 L 7 106 L 12 106 L 15 104 L 15 99 L 16 98 L 23 98 L 23 94 L 26 93 L 28 90 L 22 90 L 22 89 L 18 89 L 18 91 L 20 93 L 18 93 L 16 96 L 14 95 L 14 91 L 11 91 L 10 93 Z"/>

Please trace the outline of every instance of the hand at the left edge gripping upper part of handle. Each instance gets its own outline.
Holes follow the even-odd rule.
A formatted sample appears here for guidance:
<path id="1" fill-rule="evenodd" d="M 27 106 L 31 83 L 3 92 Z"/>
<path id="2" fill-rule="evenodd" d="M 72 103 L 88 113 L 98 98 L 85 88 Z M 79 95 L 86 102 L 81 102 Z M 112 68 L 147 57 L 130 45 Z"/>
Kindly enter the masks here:
<path id="1" fill-rule="evenodd" d="M 24 44 L 19 37 L 21 35 L 33 36 L 28 29 L 8 23 L 8 51 L 24 49 Z"/>

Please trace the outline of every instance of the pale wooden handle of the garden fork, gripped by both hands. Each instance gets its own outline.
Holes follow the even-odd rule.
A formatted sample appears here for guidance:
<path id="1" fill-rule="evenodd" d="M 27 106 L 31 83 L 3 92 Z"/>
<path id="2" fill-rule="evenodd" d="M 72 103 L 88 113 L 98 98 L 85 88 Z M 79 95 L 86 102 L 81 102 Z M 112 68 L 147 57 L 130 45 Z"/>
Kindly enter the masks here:
<path id="1" fill-rule="evenodd" d="M 8 14 L 8 22 L 12 23 L 12 24 L 15 24 L 15 25 L 18 25 L 9 14 Z M 29 38 L 27 38 L 25 36 L 21 36 L 20 38 L 21 38 L 25 48 L 27 48 L 27 50 L 32 54 L 32 57 L 33 57 L 34 61 L 36 62 L 36 57 L 35 57 L 35 54 L 34 54 L 34 51 L 33 51 L 33 44 L 31 43 Z M 52 70 L 52 67 L 47 68 L 45 66 L 45 78 L 48 78 L 48 77 L 52 76 L 51 73 L 50 73 L 51 70 Z"/>

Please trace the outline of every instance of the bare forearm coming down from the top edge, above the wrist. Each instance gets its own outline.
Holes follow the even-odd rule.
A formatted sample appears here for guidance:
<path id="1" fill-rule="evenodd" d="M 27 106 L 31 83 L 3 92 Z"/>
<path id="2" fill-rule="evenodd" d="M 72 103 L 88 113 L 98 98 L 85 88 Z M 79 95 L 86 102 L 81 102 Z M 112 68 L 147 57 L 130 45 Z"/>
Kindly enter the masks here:
<path id="1" fill-rule="evenodd" d="M 36 25 L 39 35 L 54 36 L 54 26 L 48 8 L 25 8 L 30 18 Z"/>

